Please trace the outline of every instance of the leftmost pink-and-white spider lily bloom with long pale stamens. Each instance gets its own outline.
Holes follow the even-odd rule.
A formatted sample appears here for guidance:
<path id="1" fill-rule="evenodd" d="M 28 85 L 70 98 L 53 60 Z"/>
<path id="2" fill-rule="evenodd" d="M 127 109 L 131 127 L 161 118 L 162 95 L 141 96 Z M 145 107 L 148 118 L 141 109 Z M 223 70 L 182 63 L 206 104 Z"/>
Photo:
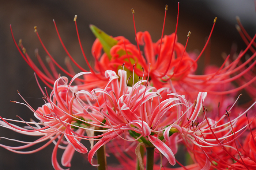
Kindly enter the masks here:
<path id="1" fill-rule="evenodd" d="M 83 74 L 90 74 L 90 72 L 82 72 L 79 75 Z M 70 167 L 71 159 L 73 157 L 74 151 L 78 151 L 79 153 L 87 153 L 87 148 L 83 146 L 82 143 L 80 143 L 81 139 L 86 140 L 100 140 L 100 139 L 94 139 L 98 137 L 87 137 L 83 134 L 86 130 L 93 130 L 92 127 L 95 124 L 99 124 L 98 119 L 103 119 L 102 117 L 99 117 L 98 115 L 85 115 L 83 113 L 83 106 L 80 106 L 81 103 L 84 103 L 83 100 L 89 101 L 89 98 L 92 100 L 92 96 L 87 91 L 77 91 L 76 94 L 73 93 L 74 90 L 78 90 L 79 88 L 70 87 L 70 84 L 73 82 L 71 80 L 71 83 L 69 86 L 67 85 L 68 79 L 66 77 L 60 77 L 56 80 L 54 83 L 54 89 L 51 92 L 50 96 L 48 96 L 47 92 L 45 95 L 44 91 L 40 87 L 42 93 L 44 94 L 43 99 L 45 100 L 45 104 L 42 107 L 38 107 L 37 110 L 34 110 L 29 103 L 26 102 L 24 98 L 22 98 L 25 103 L 20 103 L 16 101 L 10 101 L 14 103 L 24 104 L 27 107 L 30 108 L 30 110 L 34 113 L 35 117 L 40 120 L 39 123 L 35 122 L 25 122 L 22 118 L 20 121 L 18 120 L 11 120 L 14 122 L 23 122 L 26 123 L 27 126 L 25 127 L 18 127 L 14 124 L 8 123 L 6 120 L 10 119 L 4 119 L 1 118 L 0 124 L 3 127 L 6 127 L 8 129 L 14 130 L 18 133 L 26 134 L 26 135 L 34 135 L 34 136 L 42 136 L 41 138 L 37 139 L 34 142 L 24 142 L 24 141 L 17 141 L 20 143 L 25 143 L 26 145 L 19 146 L 19 147 L 11 147 L 11 146 L 5 146 L 1 145 L 1 147 L 4 147 L 7 150 L 13 151 L 15 153 L 20 154 L 29 154 L 37 152 L 41 149 L 44 149 L 46 146 L 50 145 L 50 143 L 54 143 L 55 147 L 53 149 L 52 153 L 52 165 L 54 169 L 56 170 L 63 170 L 56 159 L 57 149 L 58 147 L 61 149 L 65 149 L 61 163 L 63 166 Z M 75 89 L 74 89 L 75 88 Z M 20 95 L 20 93 L 18 92 Z M 70 94 L 74 94 L 73 96 Z M 21 96 L 21 95 L 20 95 Z M 81 97 L 80 97 L 81 96 Z M 22 96 L 21 96 L 22 97 Z M 66 102 L 66 99 L 69 100 L 69 103 Z M 88 122 L 90 120 L 90 122 Z M 97 121 L 94 121 L 97 120 Z M 76 123 L 84 123 L 84 127 L 77 126 Z M 31 126 L 32 125 L 32 126 Z M 35 126 L 33 126 L 35 125 Z M 78 124 L 79 125 L 79 124 Z M 43 126 L 43 127 L 42 127 Z M 78 129 L 75 130 L 74 128 Z M 67 141 L 65 141 L 63 139 Z M 100 136 L 99 136 L 100 137 Z M 57 142 L 55 140 L 58 140 Z M 44 142 L 49 140 L 45 145 L 39 147 L 38 149 L 32 150 L 32 151 L 19 151 L 21 149 L 25 149 L 28 147 L 31 147 L 37 143 Z M 63 143 L 67 146 L 61 146 L 60 143 Z"/>

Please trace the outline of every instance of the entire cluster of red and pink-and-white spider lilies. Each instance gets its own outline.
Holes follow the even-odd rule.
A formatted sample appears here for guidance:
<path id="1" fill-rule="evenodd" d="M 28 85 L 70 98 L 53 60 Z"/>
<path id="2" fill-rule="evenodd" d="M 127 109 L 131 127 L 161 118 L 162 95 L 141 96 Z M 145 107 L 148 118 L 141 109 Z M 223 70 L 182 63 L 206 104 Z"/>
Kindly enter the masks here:
<path id="1" fill-rule="evenodd" d="M 165 9 L 166 16 L 167 5 Z M 135 28 L 133 9 L 132 15 Z M 71 166 L 75 151 L 82 154 L 88 152 L 81 143 L 82 139 L 91 143 L 88 161 L 103 169 L 106 164 L 95 164 L 93 159 L 95 153 L 98 162 L 100 154 L 105 159 L 105 149 L 116 156 L 123 169 L 142 170 L 144 163 L 147 170 L 161 167 L 172 169 L 167 166 L 176 163 L 182 169 L 256 169 L 256 102 L 246 109 L 236 104 L 241 96 L 236 99 L 238 91 L 243 88 L 255 91 L 253 84 L 256 76 L 253 69 L 256 62 L 252 61 L 256 53 L 252 45 L 255 46 L 256 35 L 251 38 L 238 20 L 238 31 L 248 47 L 234 61 L 231 60 L 233 56 L 228 55 L 221 67 L 207 66 L 206 74 L 194 74 L 196 62 L 210 40 L 216 19 L 206 45 L 196 59 L 186 52 L 188 41 L 185 46 L 177 42 L 178 17 L 175 33 L 163 36 L 162 32 L 161 39 L 156 43 L 151 40 L 149 32 L 136 32 L 135 28 L 137 45 L 123 36 L 112 37 L 90 25 L 97 37 L 92 47 L 95 67 L 91 67 L 80 42 L 75 16 L 79 45 L 90 72 L 76 63 L 69 54 L 53 20 L 69 59 L 82 71 L 78 74 L 75 74 L 69 59 L 65 60 L 68 71 L 54 60 L 44 46 L 37 27 L 34 30 L 48 54 L 47 62 L 53 75 L 46 68 L 38 50 L 35 50 L 35 55 L 44 72 L 33 63 L 22 41 L 17 44 L 12 34 L 24 60 L 52 92 L 48 95 L 46 88 L 43 90 L 37 81 L 45 101 L 37 110 L 24 98 L 25 103 L 11 101 L 29 107 L 39 123 L 26 122 L 19 116 L 20 120 L 0 116 L 1 126 L 41 138 L 34 142 L 3 138 L 25 145 L 0 146 L 15 153 L 29 154 L 54 143 L 52 165 L 56 170 L 63 170 L 56 158 L 58 148 L 65 149 L 61 158 L 61 164 L 65 167 Z M 190 34 L 191 32 L 188 33 L 188 39 Z M 139 45 L 144 45 L 144 56 Z M 245 63 L 241 63 L 240 59 L 248 50 L 253 55 Z M 158 57 L 155 58 L 156 56 Z M 248 64 L 249 67 L 246 67 Z M 56 66 L 72 78 L 70 82 L 67 77 L 58 74 Z M 231 84 L 232 81 L 237 81 L 240 86 L 235 87 Z M 18 94 L 20 95 L 19 92 Z M 250 95 L 255 96 L 254 93 Z M 218 114 L 209 115 L 208 110 Z M 23 122 L 26 126 L 18 127 L 8 121 Z M 47 140 L 38 149 L 20 151 Z M 174 155 L 178 144 L 185 146 L 193 164 L 184 166 L 176 160 Z M 146 147 L 147 160 L 141 146 Z M 99 151 L 102 147 L 105 149 L 101 153 Z M 154 156 L 154 150 L 158 150 L 159 154 Z M 160 165 L 157 164 L 159 160 Z"/>

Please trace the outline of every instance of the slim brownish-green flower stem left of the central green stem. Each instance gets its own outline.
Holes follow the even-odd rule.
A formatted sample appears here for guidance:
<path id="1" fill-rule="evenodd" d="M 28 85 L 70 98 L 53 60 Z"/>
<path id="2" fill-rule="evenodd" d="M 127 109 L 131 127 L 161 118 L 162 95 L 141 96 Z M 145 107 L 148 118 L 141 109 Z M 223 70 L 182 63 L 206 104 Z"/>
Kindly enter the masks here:
<path id="1" fill-rule="evenodd" d="M 99 127 L 98 130 L 103 130 L 102 127 Z M 94 132 L 94 135 L 97 136 L 97 135 L 101 135 L 102 132 L 97 132 L 95 131 Z M 98 166 L 98 170 L 106 170 L 106 160 L 105 160 L 105 149 L 104 149 L 104 146 L 100 147 L 98 150 L 97 150 L 97 163 L 99 164 Z"/>

